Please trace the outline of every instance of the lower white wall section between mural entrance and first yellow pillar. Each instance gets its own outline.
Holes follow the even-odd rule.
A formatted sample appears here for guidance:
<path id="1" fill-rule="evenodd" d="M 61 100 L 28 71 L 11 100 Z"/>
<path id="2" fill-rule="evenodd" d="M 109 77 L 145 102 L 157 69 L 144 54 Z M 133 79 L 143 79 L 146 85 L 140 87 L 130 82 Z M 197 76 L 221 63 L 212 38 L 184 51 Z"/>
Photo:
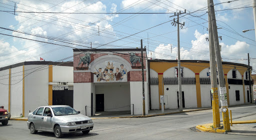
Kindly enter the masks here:
<path id="1" fill-rule="evenodd" d="M 151 91 L 151 109 L 159 109 L 159 91 L 158 85 L 150 85 Z"/>

